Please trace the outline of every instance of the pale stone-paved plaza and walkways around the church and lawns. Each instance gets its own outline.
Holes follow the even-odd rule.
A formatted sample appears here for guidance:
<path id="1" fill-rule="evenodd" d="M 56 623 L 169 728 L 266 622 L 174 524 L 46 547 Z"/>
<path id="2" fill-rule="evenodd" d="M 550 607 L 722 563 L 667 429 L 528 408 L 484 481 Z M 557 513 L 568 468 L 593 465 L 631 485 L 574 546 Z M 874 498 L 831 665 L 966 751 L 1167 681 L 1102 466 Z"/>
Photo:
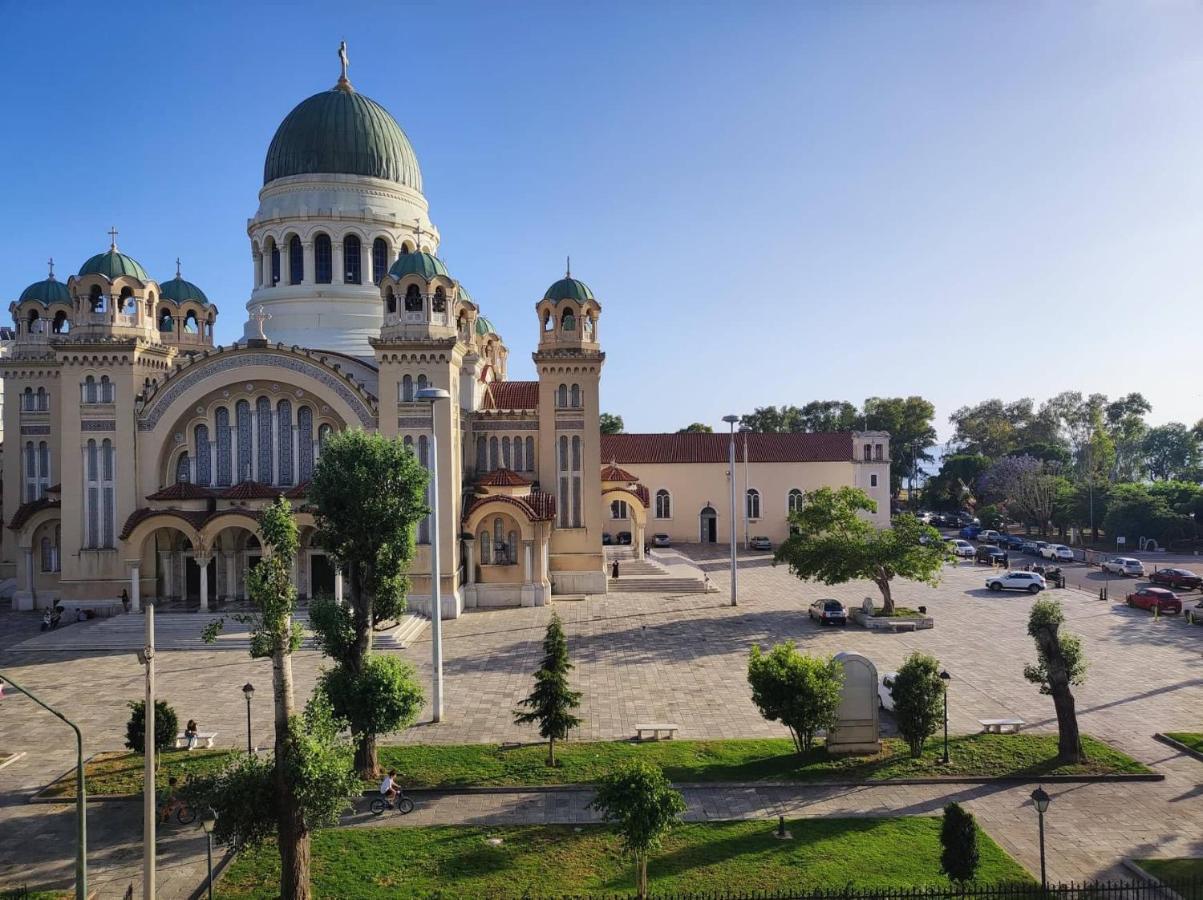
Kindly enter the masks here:
<path id="1" fill-rule="evenodd" d="M 913 650 L 934 653 L 953 676 L 952 730 L 977 730 L 977 720 L 1019 716 L 1029 728 L 1055 730 L 1053 704 L 1023 677 L 1035 657 L 1026 635 L 1026 594 L 984 590 L 984 569 L 949 568 L 938 588 L 900 584 L 896 602 L 926 605 L 931 630 L 883 635 L 863 629 L 819 628 L 806 616 L 818 597 L 859 605 L 877 597 L 866 584 L 824 587 L 799 582 L 774 568 L 765 553 L 741 558 L 740 605 L 728 604 L 723 549 L 687 546 L 717 593 L 658 596 L 611 593 L 550 608 L 474 611 L 446 622 L 445 722 L 420 723 L 390 740 L 404 742 L 529 741 L 534 729 L 512 724 L 511 710 L 531 687 L 551 611 L 565 622 L 574 682 L 583 692 L 583 723 L 574 739 L 626 739 L 636 721 L 668 721 L 681 738 L 783 736 L 760 718 L 745 680 L 748 650 L 793 639 L 810 652 L 861 652 L 879 670 L 891 670 Z M 1085 570 L 1081 573 L 1085 579 Z M 1116 591 L 1113 590 L 1113 598 Z M 1155 732 L 1203 727 L 1203 628 L 1178 617 L 1103 603 L 1089 593 L 1056 592 L 1068 628 L 1084 639 L 1090 662 L 1075 691 L 1083 729 L 1119 746 L 1166 775 L 1163 782 L 1057 784 L 1050 788 L 1050 876 L 1118 875 L 1125 855 L 1203 853 L 1203 763 L 1154 740 Z M 142 669 L 131 650 L 63 651 L 72 624 L 40 635 L 32 614 L 0 614 L 0 671 L 38 692 L 76 718 L 89 753 L 119 750 L 125 703 L 142 693 Z M 200 616 L 160 616 L 160 646 L 188 646 Z M 111 624 L 108 626 L 112 627 Z M 136 629 L 129 629 L 131 634 Z M 72 643 L 78 643 L 82 632 Z M 97 632 L 100 634 L 100 632 Z M 172 636 L 174 635 L 174 636 Z M 30 640 L 32 639 L 32 640 Z M 84 641 L 87 643 L 87 641 Z M 135 641 L 131 646 L 136 646 Z M 19 649 L 18 649 L 18 645 Z M 106 645 L 107 646 L 107 645 Z M 429 633 L 402 655 L 429 677 Z M 298 695 L 308 695 L 321 657 L 295 658 Z M 180 718 L 219 732 L 219 746 L 245 746 L 241 687 L 262 688 L 253 704 L 256 744 L 269 742 L 269 664 L 245 649 L 164 650 L 159 693 Z M 70 807 L 31 805 L 28 798 L 73 764 L 70 729 L 8 692 L 0 705 L 0 750 L 25 756 L 0 769 L 0 886 L 31 886 L 71 874 L 73 824 Z M 950 799 L 967 803 L 990 834 L 1030 870 L 1038 868 L 1031 787 L 881 786 L 689 789 L 691 818 L 784 815 L 906 815 L 937 812 Z M 407 824 L 588 821 L 585 792 L 508 792 L 422 795 Z M 360 817 L 351 817 L 358 822 Z M 367 823 L 371 825 L 371 823 Z M 120 896 L 137 882 L 141 809 L 102 803 L 89 809 L 90 860 L 101 896 Z M 167 833 L 161 847 L 162 896 L 186 896 L 203 875 L 203 841 L 191 829 Z"/>

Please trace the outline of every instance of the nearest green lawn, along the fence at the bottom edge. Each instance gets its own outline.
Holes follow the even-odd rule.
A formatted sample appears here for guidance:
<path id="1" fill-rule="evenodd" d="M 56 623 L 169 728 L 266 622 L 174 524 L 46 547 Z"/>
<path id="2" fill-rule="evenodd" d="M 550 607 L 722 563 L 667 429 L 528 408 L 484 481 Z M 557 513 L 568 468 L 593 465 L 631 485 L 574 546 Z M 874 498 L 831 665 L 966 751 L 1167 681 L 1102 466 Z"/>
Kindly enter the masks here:
<path id="1" fill-rule="evenodd" d="M 676 828 L 648 865 L 663 892 L 754 892 L 787 888 L 943 886 L 938 818 L 808 818 L 788 822 L 778 841 L 770 822 L 697 823 Z M 491 846 L 487 839 L 502 839 Z M 982 882 L 1031 876 L 984 833 Z M 244 852 L 218 886 L 221 898 L 278 895 L 274 845 Z M 315 898 L 516 898 L 627 893 L 634 866 L 606 829 L 339 828 L 313 836 Z M 529 892 L 529 893 L 527 893 Z"/>

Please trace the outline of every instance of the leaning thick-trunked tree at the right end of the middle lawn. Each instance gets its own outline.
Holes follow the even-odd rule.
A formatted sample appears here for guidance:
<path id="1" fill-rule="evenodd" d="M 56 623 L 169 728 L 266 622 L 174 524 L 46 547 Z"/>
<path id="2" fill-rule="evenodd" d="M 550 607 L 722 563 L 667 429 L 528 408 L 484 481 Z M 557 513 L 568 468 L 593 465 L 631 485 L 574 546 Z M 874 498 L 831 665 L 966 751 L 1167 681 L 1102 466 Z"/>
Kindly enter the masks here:
<path id="1" fill-rule="evenodd" d="M 1081 641 L 1073 634 L 1061 633 L 1065 612 L 1056 600 L 1037 600 L 1027 616 L 1027 633 L 1036 640 L 1036 664 L 1024 667 L 1024 677 L 1039 685 L 1042 694 L 1053 697 L 1056 710 L 1057 758 L 1065 763 L 1081 763 L 1086 751 L 1078 732 L 1078 714 L 1073 701 L 1073 685 L 1086 680 L 1086 658 Z"/>

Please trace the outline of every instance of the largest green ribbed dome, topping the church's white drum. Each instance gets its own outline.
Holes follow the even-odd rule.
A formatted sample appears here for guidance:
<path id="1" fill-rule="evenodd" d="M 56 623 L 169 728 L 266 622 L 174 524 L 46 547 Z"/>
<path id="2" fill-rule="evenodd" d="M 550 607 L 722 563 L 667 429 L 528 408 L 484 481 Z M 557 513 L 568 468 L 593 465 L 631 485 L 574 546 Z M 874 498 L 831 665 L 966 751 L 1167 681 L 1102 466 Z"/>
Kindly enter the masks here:
<path id="1" fill-rule="evenodd" d="M 362 174 L 422 189 L 414 148 L 374 100 L 333 88 L 301 101 L 267 148 L 263 184 L 290 174 Z"/>

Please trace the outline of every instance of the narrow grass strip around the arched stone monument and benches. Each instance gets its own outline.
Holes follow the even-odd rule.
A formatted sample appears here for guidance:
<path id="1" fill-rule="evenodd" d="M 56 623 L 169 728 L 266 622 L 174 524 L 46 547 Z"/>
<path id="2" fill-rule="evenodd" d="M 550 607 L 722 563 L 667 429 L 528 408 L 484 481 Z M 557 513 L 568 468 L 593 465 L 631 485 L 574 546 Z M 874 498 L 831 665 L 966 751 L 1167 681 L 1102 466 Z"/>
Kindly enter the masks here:
<path id="1" fill-rule="evenodd" d="M 1057 765 L 1055 734 L 973 734 L 949 740 L 949 765 L 940 764 L 942 742 L 928 742 L 912 759 L 906 745 L 887 739 L 873 757 L 829 757 L 823 747 L 794 753 L 788 739 L 713 741 L 600 741 L 563 744 L 557 768 L 545 764 L 545 745 L 403 745 L 380 747 L 380 764 L 396 769 L 409 787 L 467 784 L 592 783 L 628 759 L 656 763 L 676 782 L 707 781 L 885 781 L 938 775 L 1085 775 L 1148 772 L 1140 763 L 1101 741 L 1083 738 L 1090 762 Z"/>

